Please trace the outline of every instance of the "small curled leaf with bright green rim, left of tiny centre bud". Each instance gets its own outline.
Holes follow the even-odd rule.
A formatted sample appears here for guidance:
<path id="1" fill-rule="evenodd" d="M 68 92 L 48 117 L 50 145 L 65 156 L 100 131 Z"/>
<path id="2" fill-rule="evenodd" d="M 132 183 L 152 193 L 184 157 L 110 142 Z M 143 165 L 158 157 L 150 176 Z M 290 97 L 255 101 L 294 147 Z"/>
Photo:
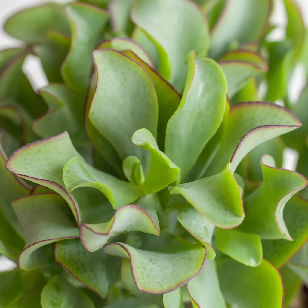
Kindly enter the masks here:
<path id="1" fill-rule="evenodd" d="M 79 187 L 92 187 L 100 190 L 114 209 L 129 204 L 141 196 L 136 185 L 99 171 L 78 157 L 71 158 L 65 164 L 63 181 L 69 192 Z"/>

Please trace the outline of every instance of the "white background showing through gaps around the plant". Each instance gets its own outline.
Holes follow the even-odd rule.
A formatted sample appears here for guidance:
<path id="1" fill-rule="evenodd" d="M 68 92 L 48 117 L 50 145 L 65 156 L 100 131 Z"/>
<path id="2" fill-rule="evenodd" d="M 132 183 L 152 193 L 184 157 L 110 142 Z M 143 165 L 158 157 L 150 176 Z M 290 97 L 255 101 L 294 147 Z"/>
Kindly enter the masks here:
<path id="1" fill-rule="evenodd" d="M 51 0 L 50 0 L 51 1 Z M 274 13 L 271 22 L 278 26 L 270 34 L 270 40 L 283 39 L 285 36 L 286 13 L 282 0 L 274 0 Z M 308 26 L 308 0 L 296 0 L 302 9 L 303 18 L 306 26 Z M 0 0 L 0 49 L 7 47 L 14 47 L 20 42 L 9 37 L 3 30 L 5 20 L 15 12 L 34 6 L 43 2 L 44 0 Z M 58 2 L 67 2 L 66 0 L 58 0 Z M 33 56 L 29 56 L 24 64 L 24 72 L 30 79 L 35 89 L 42 88 L 47 85 L 47 79 L 44 76 L 40 63 Z M 302 66 L 298 66 L 292 76 L 289 86 L 291 101 L 296 102 L 298 95 L 306 84 L 305 72 Z M 287 150 L 284 153 L 284 168 L 294 169 L 296 165 L 296 153 Z M 15 267 L 15 264 L 5 257 L 0 256 L 0 271 L 9 270 Z"/>

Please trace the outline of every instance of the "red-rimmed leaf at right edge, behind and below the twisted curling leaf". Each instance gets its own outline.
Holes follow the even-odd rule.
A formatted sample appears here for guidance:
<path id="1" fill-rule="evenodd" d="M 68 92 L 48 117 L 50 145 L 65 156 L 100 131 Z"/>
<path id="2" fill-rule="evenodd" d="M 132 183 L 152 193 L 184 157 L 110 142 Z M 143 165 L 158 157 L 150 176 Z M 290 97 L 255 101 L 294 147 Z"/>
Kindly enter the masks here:
<path id="1" fill-rule="evenodd" d="M 262 241 L 264 257 L 275 267 L 281 267 L 305 243 L 308 238 L 308 203 L 299 197 L 292 197 L 286 204 L 283 218 L 293 241 Z"/>

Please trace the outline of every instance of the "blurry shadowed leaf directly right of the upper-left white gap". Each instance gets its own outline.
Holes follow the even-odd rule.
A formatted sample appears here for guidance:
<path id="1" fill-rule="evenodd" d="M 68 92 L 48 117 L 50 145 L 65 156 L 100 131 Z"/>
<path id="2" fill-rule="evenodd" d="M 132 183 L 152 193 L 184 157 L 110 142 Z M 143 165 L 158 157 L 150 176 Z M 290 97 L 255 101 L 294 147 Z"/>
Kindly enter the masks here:
<path id="1" fill-rule="evenodd" d="M 62 82 L 61 66 L 69 52 L 70 44 L 69 37 L 57 31 L 50 31 L 41 44 L 34 46 L 50 83 Z"/>

